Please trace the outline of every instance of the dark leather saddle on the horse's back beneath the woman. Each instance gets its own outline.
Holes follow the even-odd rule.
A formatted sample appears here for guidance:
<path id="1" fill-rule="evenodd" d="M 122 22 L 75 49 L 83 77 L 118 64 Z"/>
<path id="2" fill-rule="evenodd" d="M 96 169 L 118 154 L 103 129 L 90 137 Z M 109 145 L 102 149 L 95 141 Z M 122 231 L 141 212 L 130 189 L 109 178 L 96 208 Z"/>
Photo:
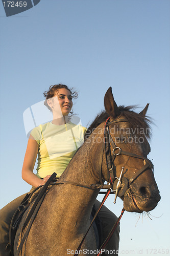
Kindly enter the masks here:
<path id="1" fill-rule="evenodd" d="M 9 232 L 9 246 L 12 256 L 18 256 L 22 250 L 22 246 L 27 240 L 30 228 L 36 218 L 38 210 L 48 193 L 50 188 L 55 184 L 51 183 L 56 177 L 54 173 L 42 187 L 35 188 L 32 193 L 27 194 L 22 200 L 20 206 L 15 211 L 15 214 L 11 220 L 10 232 Z M 51 183 L 51 184 L 50 184 Z M 90 220 L 93 219 L 96 209 L 93 206 Z M 97 216 L 94 223 L 93 229 L 95 233 L 95 240 L 98 248 L 102 244 L 102 225 L 101 220 Z"/>

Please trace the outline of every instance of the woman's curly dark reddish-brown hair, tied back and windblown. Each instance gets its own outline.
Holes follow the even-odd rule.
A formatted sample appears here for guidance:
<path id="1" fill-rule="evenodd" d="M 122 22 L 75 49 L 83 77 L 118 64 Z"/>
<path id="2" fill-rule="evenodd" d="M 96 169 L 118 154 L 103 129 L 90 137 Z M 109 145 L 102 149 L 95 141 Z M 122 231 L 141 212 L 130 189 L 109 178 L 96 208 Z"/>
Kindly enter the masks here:
<path id="1" fill-rule="evenodd" d="M 44 105 L 47 106 L 47 108 L 52 111 L 52 109 L 50 108 L 50 106 L 47 104 L 47 99 L 53 98 L 56 95 L 56 92 L 58 92 L 59 89 L 66 89 L 70 92 L 72 98 L 77 99 L 78 97 L 78 92 L 75 91 L 74 88 L 68 88 L 65 84 L 55 84 L 54 86 L 50 86 L 48 91 L 45 91 L 44 97 L 45 97 L 45 101 L 44 101 Z"/>

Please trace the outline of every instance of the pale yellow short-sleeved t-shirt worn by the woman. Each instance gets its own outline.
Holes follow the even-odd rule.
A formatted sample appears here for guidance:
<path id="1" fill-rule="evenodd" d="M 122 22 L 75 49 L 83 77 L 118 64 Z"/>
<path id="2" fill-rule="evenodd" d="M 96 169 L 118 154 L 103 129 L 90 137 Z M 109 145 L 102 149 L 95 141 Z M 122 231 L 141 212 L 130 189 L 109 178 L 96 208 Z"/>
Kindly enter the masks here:
<path id="1" fill-rule="evenodd" d="M 52 122 L 40 124 L 31 131 L 31 135 L 39 144 L 37 176 L 64 172 L 69 161 L 84 142 L 86 128 L 68 122 L 56 125 Z"/>

